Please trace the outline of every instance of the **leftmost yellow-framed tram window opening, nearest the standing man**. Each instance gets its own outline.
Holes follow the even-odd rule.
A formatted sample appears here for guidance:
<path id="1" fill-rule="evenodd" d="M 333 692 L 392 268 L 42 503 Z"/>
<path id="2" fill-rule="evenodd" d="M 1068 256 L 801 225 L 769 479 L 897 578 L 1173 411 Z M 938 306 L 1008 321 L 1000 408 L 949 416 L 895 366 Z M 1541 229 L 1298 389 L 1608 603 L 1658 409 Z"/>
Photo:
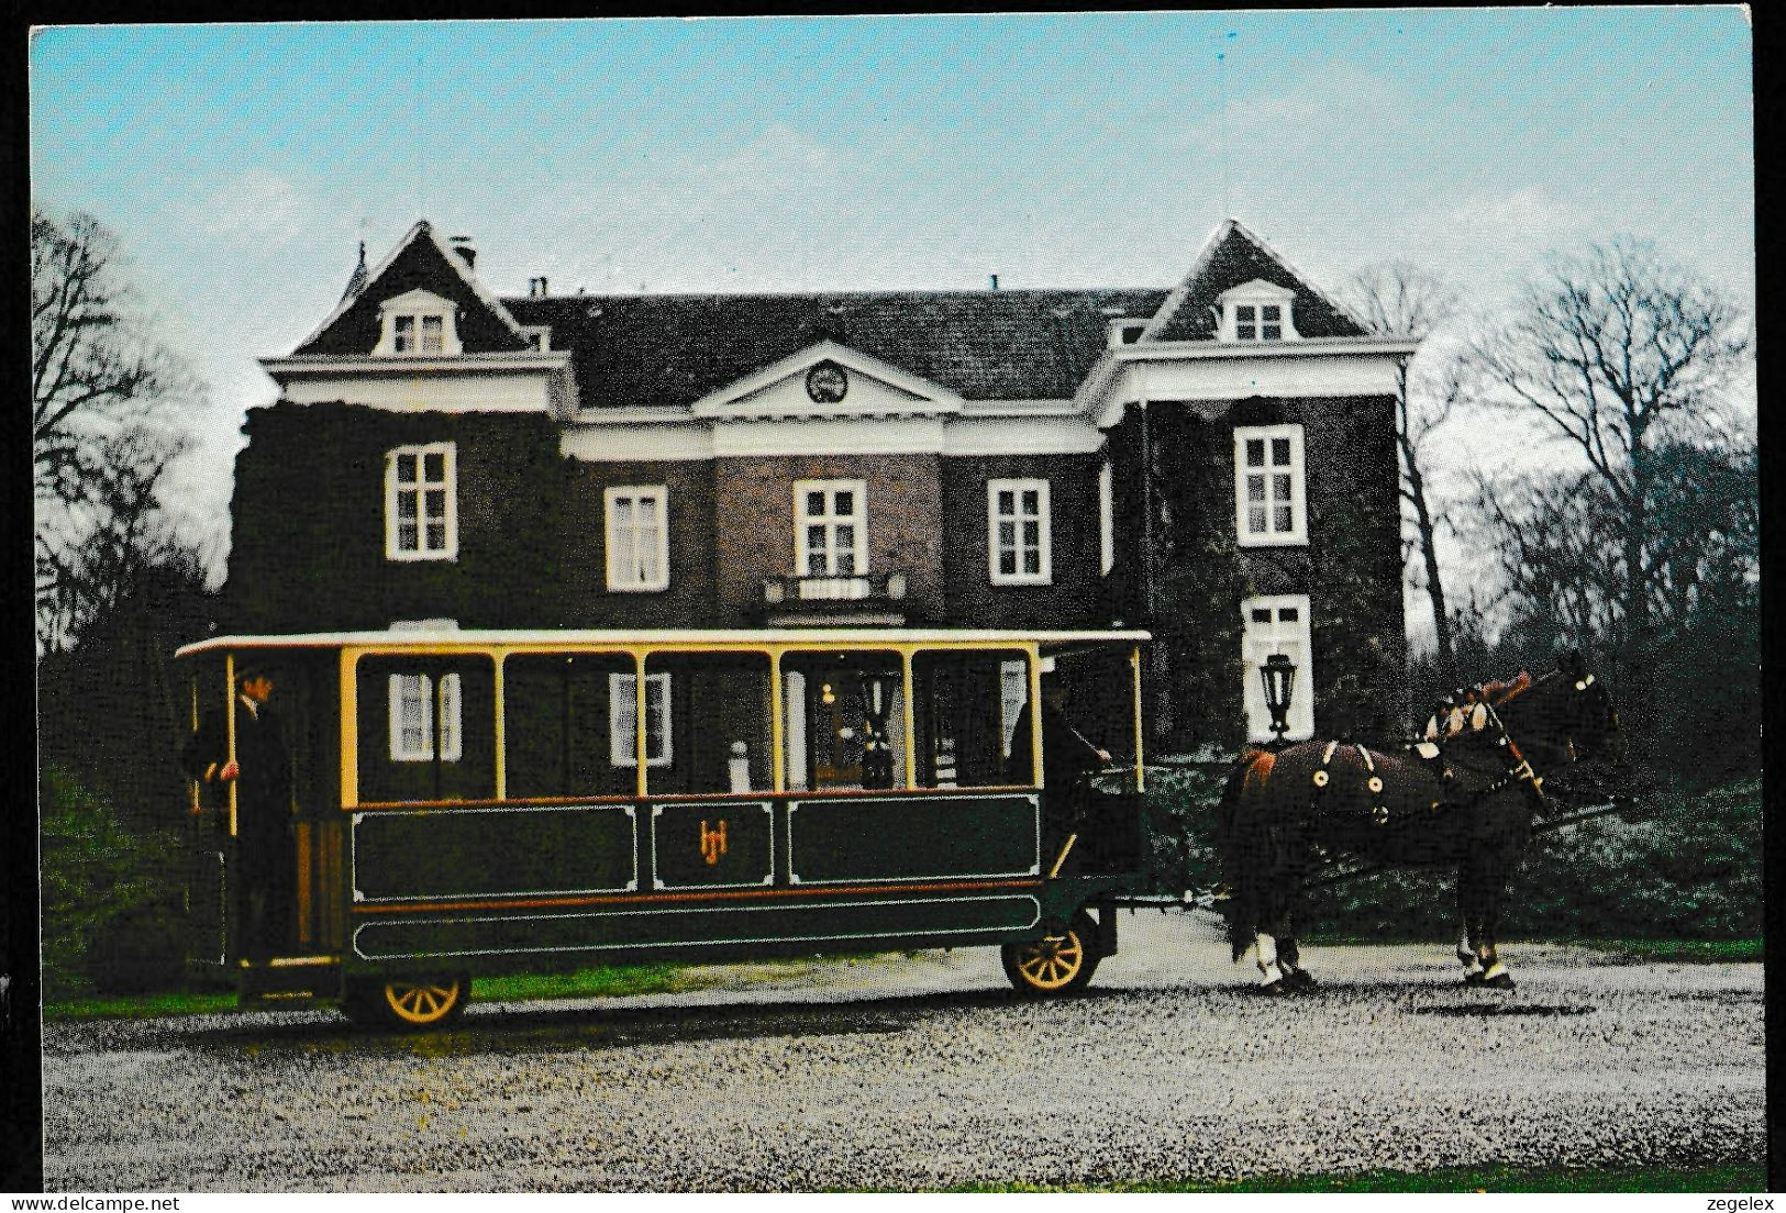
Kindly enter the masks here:
<path id="1" fill-rule="evenodd" d="M 363 657 L 357 681 L 361 800 L 497 795 L 489 657 Z"/>

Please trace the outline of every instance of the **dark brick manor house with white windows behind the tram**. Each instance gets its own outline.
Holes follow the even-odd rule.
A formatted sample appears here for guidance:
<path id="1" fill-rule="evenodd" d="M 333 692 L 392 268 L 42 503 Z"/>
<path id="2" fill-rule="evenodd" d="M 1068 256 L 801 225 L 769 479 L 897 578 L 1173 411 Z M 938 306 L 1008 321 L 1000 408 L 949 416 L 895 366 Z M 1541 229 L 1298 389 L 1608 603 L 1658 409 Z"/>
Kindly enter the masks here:
<path id="1" fill-rule="evenodd" d="M 1154 754 L 1402 715 L 1395 384 L 1239 222 L 1170 289 L 498 298 L 416 223 L 236 463 L 220 620 L 1156 634 Z"/>

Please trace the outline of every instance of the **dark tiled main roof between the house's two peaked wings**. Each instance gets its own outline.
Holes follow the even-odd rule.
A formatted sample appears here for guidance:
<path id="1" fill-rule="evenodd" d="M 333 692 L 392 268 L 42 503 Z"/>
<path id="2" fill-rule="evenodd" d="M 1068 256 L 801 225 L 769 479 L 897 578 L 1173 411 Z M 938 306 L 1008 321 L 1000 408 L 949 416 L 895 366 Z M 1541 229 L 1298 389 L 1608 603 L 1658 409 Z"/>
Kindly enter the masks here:
<path id="1" fill-rule="evenodd" d="M 584 407 L 688 406 L 825 338 L 968 400 L 1072 397 L 1104 325 L 1166 291 L 838 291 L 505 298 L 572 350 Z M 370 348 L 370 347 L 368 347 Z"/>

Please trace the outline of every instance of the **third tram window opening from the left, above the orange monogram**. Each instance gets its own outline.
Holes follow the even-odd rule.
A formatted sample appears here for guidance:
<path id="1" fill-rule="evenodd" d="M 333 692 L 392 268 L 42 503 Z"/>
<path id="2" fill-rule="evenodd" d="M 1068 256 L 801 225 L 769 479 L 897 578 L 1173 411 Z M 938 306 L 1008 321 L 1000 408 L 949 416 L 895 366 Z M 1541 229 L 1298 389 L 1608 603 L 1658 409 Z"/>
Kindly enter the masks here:
<path id="1" fill-rule="evenodd" d="M 632 679 L 625 684 L 630 690 Z M 645 659 L 645 695 L 650 795 L 770 791 L 766 654 L 652 654 Z M 625 724 L 634 724 L 630 707 Z M 627 738 L 629 761 L 634 745 Z"/>

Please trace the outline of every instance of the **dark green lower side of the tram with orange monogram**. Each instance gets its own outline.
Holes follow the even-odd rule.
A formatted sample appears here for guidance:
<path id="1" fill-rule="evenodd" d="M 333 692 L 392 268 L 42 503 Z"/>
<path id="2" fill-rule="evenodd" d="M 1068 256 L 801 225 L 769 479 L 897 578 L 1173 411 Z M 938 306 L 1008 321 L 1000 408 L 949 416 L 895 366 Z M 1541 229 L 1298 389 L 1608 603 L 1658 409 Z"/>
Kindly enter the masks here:
<path id="1" fill-rule="evenodd" d="M 998 943 L 1032 931 L 1032 793 L 352 815 L 370 965 Z"/>

